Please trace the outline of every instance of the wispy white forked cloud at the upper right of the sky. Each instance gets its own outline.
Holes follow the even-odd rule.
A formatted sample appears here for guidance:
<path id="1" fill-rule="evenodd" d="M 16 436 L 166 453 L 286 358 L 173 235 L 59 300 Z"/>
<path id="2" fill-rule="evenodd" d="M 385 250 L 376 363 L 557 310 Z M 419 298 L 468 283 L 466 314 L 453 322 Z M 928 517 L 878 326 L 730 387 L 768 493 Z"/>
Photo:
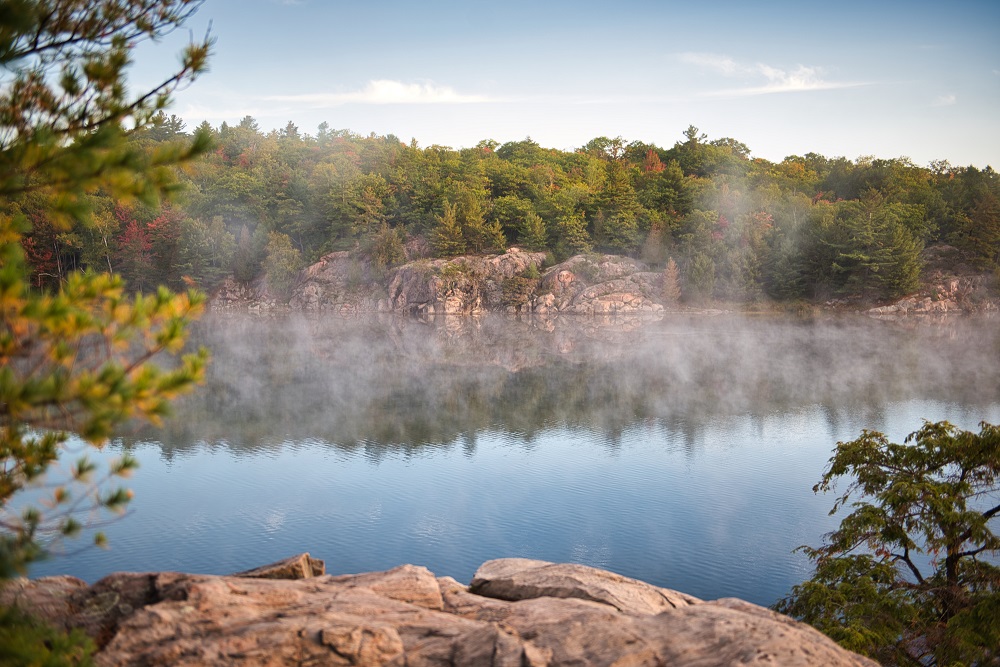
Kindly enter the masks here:
<path id="1" fill-rule="evenodd" d="M 729 56 L 716 53 L 681 53 L 683 63 L 708 69 L 727 77 L 739 76 L 760 82 L 743 88 L 728 88 L 706 93 L 709 96 L 742 97 L 750 95 L 771 95 L 775 93 L 800 93 L 814 90 L 834 90 L 867 85 L 865 83 L 829 81 L 820 67 L 799 65 L 793 70 L 784 70 L 764 63 L 741 63 Z"/>

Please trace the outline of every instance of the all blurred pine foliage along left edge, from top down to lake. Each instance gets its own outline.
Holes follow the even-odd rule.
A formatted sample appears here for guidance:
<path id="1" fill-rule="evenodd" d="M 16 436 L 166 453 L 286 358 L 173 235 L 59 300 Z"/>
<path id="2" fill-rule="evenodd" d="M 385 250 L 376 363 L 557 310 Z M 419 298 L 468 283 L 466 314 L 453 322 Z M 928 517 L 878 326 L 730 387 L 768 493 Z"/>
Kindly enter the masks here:
<path id="1" fill-rule="evenodd" d="M 158 422 L 169 401 L 203 377 L 204 350 L 169 368 L 150 363 L 161 353 L 181 355 L 201 294 L 161 287 L 131 298 L 120 276 L 69 271 L 58 256 L 56 289 L 39 293 L 25 262 L 26 252 L 36 262 L 51 258 L 28 236 L 36 220 L 73 247 L 87 238 L 73 225 L 93 229 L 90 238 L 104 249 L 91 256 L 109 265 L 123 245 L 142 259 L 153 242 L 170 240 L 172 220 L 132 218 L 135 243 L 119 242 L 113 252 L 110 208 L 95 203 L 108 197 L 155 210 L 160 196 L 177 190 L 175 166 L 207 149 L 204 134 L 152 148 L 142 137 L 160 122 L 170 92 L 205 68 L 207 40 L 189 46 L 180 69 L 152 90 L 129 97 L 125 81 L 136 42 L 177 28 L 198 4 L 19 0 L 0 12 L 0 579 L 79 534 L 87 517 L 123 511 L 131 497 L 122 488 L 102 491 L 84 456 L 67 479 L 46 478 L 52 492 L 41 507 L 14 506 L 49 471 L 70 431 L 100 447 L 126 420 Z M 105 478 L 135 465 L 123 457 Z M 104 542 L 99 533 L 94 540 Z"/>

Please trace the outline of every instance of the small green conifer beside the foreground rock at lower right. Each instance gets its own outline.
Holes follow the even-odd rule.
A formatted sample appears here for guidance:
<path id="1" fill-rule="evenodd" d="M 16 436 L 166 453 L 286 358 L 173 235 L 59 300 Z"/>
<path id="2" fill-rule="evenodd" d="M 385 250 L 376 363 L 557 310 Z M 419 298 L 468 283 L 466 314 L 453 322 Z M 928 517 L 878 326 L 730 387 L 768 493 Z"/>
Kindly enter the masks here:
<path id="1" fill-rule="evenodd" d="M 927 422 L 903 444 L 837 443 L 815 491 L 847 477 L 816 571 L 776 608 L 884 664 L 1000 662 L 1000 427 Z"/>

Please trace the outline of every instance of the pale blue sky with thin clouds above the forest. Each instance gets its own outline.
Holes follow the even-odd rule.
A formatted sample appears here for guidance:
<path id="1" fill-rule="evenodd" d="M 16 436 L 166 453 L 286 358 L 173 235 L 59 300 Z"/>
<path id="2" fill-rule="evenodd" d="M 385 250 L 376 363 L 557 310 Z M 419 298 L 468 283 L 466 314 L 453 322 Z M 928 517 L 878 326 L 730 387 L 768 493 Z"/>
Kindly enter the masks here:
<path id="1" fill-rule="evenodd" d="M 572 150 L 694 125 L 773 161 L 1000 168 L 998 0 L 205 0 L 185 28 L 142 45 L 132 80 L 210 30 L 210 71 L 169 110 L 189 129 Z"/>

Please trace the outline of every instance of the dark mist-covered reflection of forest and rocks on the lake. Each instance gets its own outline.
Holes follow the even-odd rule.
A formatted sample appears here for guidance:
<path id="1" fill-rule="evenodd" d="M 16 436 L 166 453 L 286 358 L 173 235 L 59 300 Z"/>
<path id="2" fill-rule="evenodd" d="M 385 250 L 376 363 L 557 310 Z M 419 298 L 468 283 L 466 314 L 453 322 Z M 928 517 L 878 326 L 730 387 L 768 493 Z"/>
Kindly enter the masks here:
<path id="1" fill-rule="evenodd" d="M 530 440 L 568 426 L 605 433 L 647 421 L 685 432 L 726 415 L 822 406 L 870 415 L 893 401 L 1000 395 L 995 321 L 944 324 L 667 315 L 659 320 L 214 314 L 196 344 L 207 386 L 155 434 L 200 442 L 293 441 L 387 451 L 440 447 L 489 428 Z"/>

